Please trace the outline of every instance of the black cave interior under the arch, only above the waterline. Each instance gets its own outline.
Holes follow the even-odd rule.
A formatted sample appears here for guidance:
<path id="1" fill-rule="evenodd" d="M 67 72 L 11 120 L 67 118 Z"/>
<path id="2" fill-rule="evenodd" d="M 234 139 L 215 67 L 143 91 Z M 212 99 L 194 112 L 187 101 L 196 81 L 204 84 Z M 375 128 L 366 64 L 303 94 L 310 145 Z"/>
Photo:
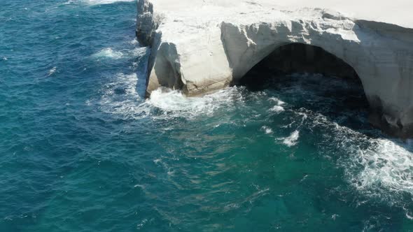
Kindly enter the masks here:
<path id="1" fill-rule="evenodd" d="M 272 82 L 282 81 L 292 73 L 321 74 L 363 86 L 356 71 L 345 61 L 323 48 L 302 43 L 290 43 L 276 48 L 253 66 L 239 84 L 253 90 L 265 89 Z"/>

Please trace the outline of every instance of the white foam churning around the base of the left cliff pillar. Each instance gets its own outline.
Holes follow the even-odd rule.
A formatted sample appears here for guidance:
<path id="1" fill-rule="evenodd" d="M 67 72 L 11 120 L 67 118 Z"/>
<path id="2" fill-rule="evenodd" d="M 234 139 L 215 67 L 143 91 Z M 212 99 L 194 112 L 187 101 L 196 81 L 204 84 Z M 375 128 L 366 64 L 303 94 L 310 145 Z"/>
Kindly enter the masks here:
<path id="1" fill-rule="evenodd" d="M 238 87 L 221 89 L 204 96 L 187 97 L 177 90 L 156 89 L 149 99 L 144 99 L 143 83 L 139 83 L 136 73 L 118 73 L 112 82 L 105 85 L 100 101 L 107 113 L 132 117 L 134 119 L 151 116 L 153 119 L 174 117 L 205 117 L 219 108 L 229 108 L 241 100 Z M 138 91 L 140 89 L 140 91 Z M 140 93 L 140 94 L 139 94 Z"/>

